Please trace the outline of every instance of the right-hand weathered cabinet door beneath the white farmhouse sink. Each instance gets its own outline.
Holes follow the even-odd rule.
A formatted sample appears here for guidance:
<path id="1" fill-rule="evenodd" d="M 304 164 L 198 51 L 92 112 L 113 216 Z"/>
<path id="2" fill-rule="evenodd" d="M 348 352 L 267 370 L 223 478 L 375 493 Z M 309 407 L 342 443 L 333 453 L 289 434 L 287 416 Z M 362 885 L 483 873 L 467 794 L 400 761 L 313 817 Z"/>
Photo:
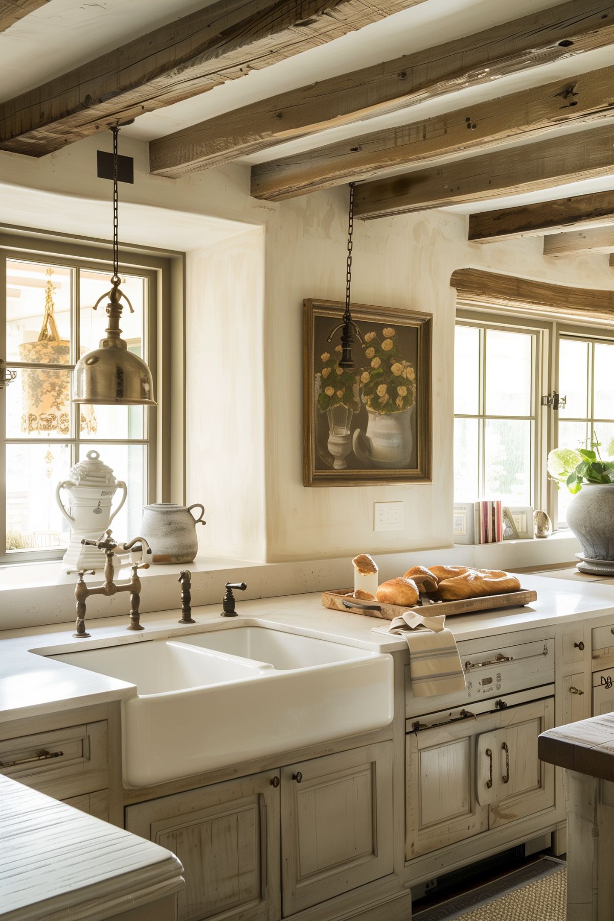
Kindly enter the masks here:
<path id="1" fill-rule="evenodd" d="M 393 869 L 392 742 L 282 769 L 284 915 Z"/>

